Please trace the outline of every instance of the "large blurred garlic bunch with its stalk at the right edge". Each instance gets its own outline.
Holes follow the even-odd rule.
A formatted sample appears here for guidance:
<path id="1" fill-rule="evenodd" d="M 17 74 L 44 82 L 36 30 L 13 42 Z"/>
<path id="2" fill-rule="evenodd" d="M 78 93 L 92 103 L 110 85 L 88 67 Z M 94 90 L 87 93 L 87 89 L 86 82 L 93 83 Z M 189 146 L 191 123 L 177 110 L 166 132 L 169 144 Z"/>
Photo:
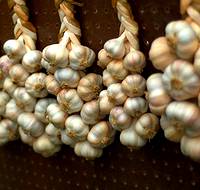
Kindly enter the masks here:
<path id="1" fill-rule="evenodd" d="M 148 102 L 161 116 L 165 137 L 200 160 L 200 2 L 182 0 L 181 13 L 185 20 L 169 23 L 165 36 L 152 43 L 149 56 L 162 73 L 147 79 Z"/>

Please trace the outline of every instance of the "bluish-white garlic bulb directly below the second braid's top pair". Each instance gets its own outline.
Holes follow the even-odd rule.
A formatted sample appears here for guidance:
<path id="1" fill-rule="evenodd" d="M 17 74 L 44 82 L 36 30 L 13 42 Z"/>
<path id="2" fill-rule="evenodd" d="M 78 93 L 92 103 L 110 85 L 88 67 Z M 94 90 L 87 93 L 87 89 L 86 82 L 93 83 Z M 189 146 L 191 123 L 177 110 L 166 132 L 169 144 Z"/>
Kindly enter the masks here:
<path id="1" fill-rule="evenodd" d="M 57 69 L 54 77 L 62 87 L 68 86 L 75 88 L 78 86 L 80 80 L 79 72 L 69 67 L 64 69 Z"/>

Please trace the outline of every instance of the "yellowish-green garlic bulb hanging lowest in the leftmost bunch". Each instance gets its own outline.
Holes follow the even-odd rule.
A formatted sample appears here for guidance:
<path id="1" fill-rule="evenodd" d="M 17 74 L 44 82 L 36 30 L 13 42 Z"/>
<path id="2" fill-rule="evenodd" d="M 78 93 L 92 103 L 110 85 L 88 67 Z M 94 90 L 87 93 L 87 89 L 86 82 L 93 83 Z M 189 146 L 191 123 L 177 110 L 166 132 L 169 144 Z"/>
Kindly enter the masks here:
<path id="1" fill-rule="evenodd" d="M 33 142 L 33 149 L 44 157 L 50 157 L 60 151 L 60 146 L 52 143 L 47 135 L 42 135 Z"/>

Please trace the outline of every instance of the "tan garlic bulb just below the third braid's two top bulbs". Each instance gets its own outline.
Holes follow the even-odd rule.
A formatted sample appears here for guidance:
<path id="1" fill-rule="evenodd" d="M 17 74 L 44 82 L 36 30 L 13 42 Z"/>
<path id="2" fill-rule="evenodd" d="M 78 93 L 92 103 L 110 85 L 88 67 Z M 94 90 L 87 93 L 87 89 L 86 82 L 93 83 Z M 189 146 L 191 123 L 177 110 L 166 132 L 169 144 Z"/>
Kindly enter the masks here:
<path id="1" fill-rule="evenodd" d="M 124 68 L 122 60 L 111 61 L 106 69 L 116 80 L 123 80 L 128 75 L 128 71 Z"/>

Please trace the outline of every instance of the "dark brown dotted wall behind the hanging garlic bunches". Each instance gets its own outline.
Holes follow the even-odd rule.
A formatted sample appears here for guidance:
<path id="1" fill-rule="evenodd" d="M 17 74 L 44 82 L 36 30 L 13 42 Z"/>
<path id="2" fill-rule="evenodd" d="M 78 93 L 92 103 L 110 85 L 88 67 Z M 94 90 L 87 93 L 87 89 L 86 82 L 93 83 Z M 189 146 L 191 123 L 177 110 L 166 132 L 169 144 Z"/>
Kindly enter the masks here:
<path id="1" fill-rule="evenodd" d="M 118 34 L 119 22 L 110 0 L 83 0 L 78 8 L 82 42 L 96 53 L 104 42 Z M 162 35 L 165 25 L 180 18 L 178 0 L 131 1 L 140 26 L 140 44 L 148 55 L 151 41 Z M 38 30 L 38 48 L 57 41 L 58 14 L 53 0 L 30 0 L 31 19 Z M 0 3 L 0 46 L 13 38 L 11 14 Z M 1 47 L 2 49 L 2 47 Z M 1 52 L 3 54 L 3 52 Z M 151 63 L 145 76 L 154 70 Z M 115 143 L 95 161 L 78 158 L 69 147 L 52 158 L 42 158 L 21 142 L 0 148 L 0 190 L 192 190 L 200 189 L 200 165 L 184 157 L 179 145 L 164 139 L 162 132 L 145 148 L 129 150 Z"/>

